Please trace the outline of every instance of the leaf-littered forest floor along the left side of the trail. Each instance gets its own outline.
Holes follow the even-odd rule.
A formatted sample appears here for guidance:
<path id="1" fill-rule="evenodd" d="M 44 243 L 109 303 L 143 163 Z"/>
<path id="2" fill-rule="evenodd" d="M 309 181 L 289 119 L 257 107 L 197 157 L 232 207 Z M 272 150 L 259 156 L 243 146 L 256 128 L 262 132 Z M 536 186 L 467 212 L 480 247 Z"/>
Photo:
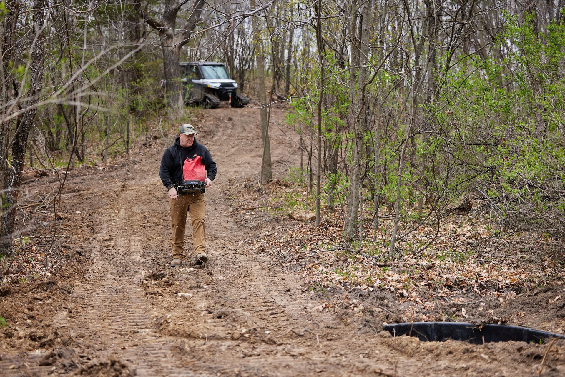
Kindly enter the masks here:
<path id="1" fill-rule="evenodd" d="M 198 110 L 188 112 L 185 119 L 190 119 L 194 111 Z M 40 166 L 24 167 L 23 188 L 15 216 L 16 232 L 12 241 L 14 256 L 0 257 L 0 285 L 16 279 L 20 282 L 49 279 L 72 261 L 69 249 L 82 241 L 76 229 L 94 229 L 92 214 L 74 208 L 73 203 L 64 199 L 65 195 L 81 191 L 78 186 L 65 182 L 64 176 L 69 174 L 83 179 L 96 174 L 115 176 L 116 170 L 136 165 L 137 154 L 151 148 L 164 136 L 163 117 L 157 117 L 150 123 L 152 126 L 144 132 L 132 134 L 132 154 L 116 148 L 105 162 L 97 154 L 99 143 L 93 140 L 88 141 L 85 147 L 91 157 L 72 168 L 66 166 L 68 156 L 63 155 L 54 157 L 55 167 L 50 170 L 43 170 Z M 125 174 L 131 176 L 129 172 Z M 106 179 L 109 181 L 109 178 Z M 37 192 L 36 188 L 32 188 L 30 191 L 29 185 L 36 185 L 37 181 L 50 190 Z M 85 198 L 95 199 L 95 195 L 86 195 Z"/>

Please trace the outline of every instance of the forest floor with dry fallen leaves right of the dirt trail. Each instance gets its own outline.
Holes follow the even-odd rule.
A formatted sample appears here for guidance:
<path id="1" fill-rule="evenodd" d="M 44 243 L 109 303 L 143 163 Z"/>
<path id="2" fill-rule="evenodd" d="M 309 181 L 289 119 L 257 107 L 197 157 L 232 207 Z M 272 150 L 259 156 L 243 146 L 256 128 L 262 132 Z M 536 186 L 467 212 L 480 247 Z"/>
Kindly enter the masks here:
<path id="1" fill-rule="evenodd" d="M 318 229 L 312 221 L 304 222 L 306 185 L 295 179 L 296 170 L 290 168 L 284 179 L 262 187 L 248 179 L 245 194 L 232 196 L 232 210 L 247 220 L 262 219 L 257 220 L 261 235 L 250 242 L 276 255 L 281 268 L 299 268 L 311 290 L 385 291 L 398 304 L 406 304 L 401 319 L 407 322 L 464 321 L 470 317 L 464 305 L 477 304 L 477 310 L 485 312 L 485 322 L 502 323 L 505 319 L 489 310 L 492 300 L 503 304 L 533 290 L 563 286 L 563 242 L 532 232 L 500 234 L 495 221 L 473 212 L 447 216 L 439 227 L 430 220 L 410 233 L 419 223 L 410 220 L 418 218 L 416 209 L 410 208 L 399 230 L 408 234 L 390 261 L 394 216 L 385 206 L 381 208 L 379 226 L 373 232 L 370 202 L 360 215 L 364 219 L 362 237 L 358 234 L 347 243 L 340 206 L 334 213 L 323 207 Z M 268 198 L 258 195 L 263 190 Z M 312 193 L 308 200 L 307 218 L 313 220 Z M 556 294 L 549 303 L 562 297 Z M 446 302 L 459 307 L 449 313 L 434 310 Z M 322 303 L 319 310 L 332 305 Z M 363 309 L 368 308 L 361 308 L 360 313 Z"/>

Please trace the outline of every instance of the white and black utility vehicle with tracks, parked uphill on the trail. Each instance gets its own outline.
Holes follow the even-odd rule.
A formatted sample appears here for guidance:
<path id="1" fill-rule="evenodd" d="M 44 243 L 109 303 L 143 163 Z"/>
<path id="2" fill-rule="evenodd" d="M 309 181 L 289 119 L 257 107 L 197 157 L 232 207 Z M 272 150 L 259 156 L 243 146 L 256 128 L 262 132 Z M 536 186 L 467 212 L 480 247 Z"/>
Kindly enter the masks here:
<path id="1" fill-rule="evenodd" d="M 216 108 L 220 101 L 228 101 L 232 107 L 244 107 L 249 98 L 237 93 L 237 82 L 229 78 L 224 63 L 180 63 L 184 86 L 185 104 L 202 104 Z"/>

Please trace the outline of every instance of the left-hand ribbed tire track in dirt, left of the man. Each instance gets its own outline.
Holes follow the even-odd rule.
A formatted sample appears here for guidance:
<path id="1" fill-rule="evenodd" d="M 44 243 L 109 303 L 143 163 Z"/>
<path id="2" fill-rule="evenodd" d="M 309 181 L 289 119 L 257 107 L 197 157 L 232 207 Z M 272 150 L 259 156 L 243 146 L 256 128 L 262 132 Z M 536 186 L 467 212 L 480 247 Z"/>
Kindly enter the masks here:
<path id="1" fill-rule="evenodd" d="M 93 360 L 119 357 L 131 365 L 137 376 L 188 375 L 172 366 L 171 345 L 153 331 L 140 282 L 145 275 L 141 257 L 141 237 L 136 224 L 141 217 L 127 208 L 125 194 L 117 218 L 102 214 L 101 231 L 92 251 L 96 271 L 89 286 L 76 293 L 76 299 L 90 301 L 87 315 L 77 323 L 96 337 L 102 350 Z M 112 246 L 112 242 L 115 246 Z M 110 246 L 110 247 L 103 247 Z M 102 317 L 103 324 L 97 323 Z"/>

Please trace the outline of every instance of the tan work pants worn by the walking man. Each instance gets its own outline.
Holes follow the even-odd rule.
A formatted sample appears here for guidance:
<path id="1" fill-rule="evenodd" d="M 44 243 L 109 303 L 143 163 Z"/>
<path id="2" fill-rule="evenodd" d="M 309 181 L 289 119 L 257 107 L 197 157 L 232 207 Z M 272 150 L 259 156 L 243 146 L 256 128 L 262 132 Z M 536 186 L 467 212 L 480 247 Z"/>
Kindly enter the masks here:
<path id="1" fill-rule="evenodd" d="M 184 260 L 184 230 L 186 226 L 186 213 L 192 222 L 192 238 L 194 241 L 194 255 L 206 251 L 206 229 L 204 213 L 206 201 L 200 192 L 193 194 L 180 194 L 179 199 L 171 199 L 171 220 L 173 223 L 173 258 Z"/>

